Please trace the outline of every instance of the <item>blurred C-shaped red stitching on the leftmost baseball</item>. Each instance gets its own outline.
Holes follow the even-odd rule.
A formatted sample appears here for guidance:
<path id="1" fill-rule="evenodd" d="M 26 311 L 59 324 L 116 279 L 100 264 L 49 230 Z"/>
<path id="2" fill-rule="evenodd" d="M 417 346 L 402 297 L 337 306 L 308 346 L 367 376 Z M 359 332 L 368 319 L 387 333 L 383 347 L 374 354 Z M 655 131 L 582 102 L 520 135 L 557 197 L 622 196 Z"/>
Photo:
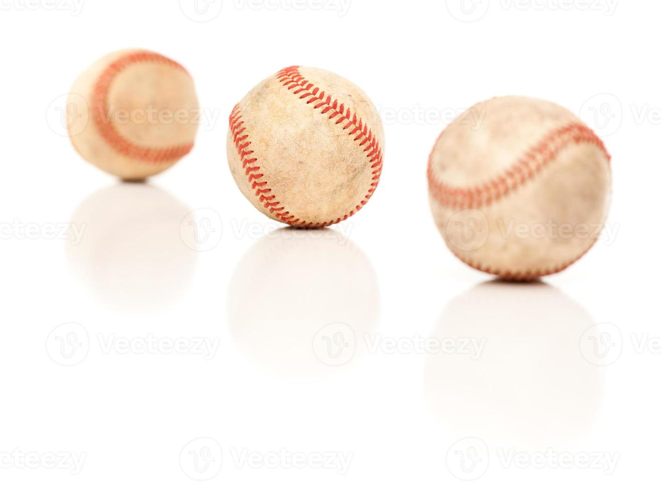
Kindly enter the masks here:
<path id="1" fill-rule="evenodd" d="M 171 60 L 165 56 L 150 51 L 138 51 L 124 55 L 110 63 L 108 67 L 98 77 L 92 93 L 92 117 L 101 137 L 122 155 L 130 158 L 137 158 L 139 160 L 146 160 L 148 162 L 167 162 L 169 160 L 176 160 L 188 154 L 193 148 L 193 143 L 185 145 L 176 145 L 173 147 L 164 148 L 150 148 L 143 147 L 131 143 L 112 125 L 112 121 L 104 121 L 108 112 L 108 92 L 110 92 L 110 85 L 115 77 L 124 69 L 134 63 L 166 63 L 171 67 L 184 71 L 188 71 L 176 61 Z"/>

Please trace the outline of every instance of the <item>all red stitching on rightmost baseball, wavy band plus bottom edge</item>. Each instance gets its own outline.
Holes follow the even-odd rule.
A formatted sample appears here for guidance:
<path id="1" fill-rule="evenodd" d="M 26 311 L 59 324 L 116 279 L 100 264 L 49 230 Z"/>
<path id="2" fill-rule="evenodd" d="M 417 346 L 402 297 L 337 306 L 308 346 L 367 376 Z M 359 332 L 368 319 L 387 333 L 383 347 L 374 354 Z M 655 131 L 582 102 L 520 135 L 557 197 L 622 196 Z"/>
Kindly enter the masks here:
<path id="1" fill-rule="evenodd" d="M 439 141 L 443 133 L 439 137 Z M 475 187 L 453 187 L 436 179 L 432 170 L 432 161 L 434 151 L 429 158 L 429 165 L 427 168 L 427 178 L 429 182 L 430 194 L 442 206 L 451 210 L 461 211 L 464 209 L 473 209 L 479 207 L 489 206 L 492 203 L 506 197 L 518 187 L 524 185 L 536 176 L 539 176 L 541 171 L 546 168 L 559 154 L 563 148 L 568 147 L 571 143 L 576 145 L 580 143 L 588 143 L 595 145 L 605 154 L 608 162 L 611 160 L 610 154 L 607 152 L 602 140 L 588 127 L 582 123 L 571 123 L 552 133 L 535 145 L 524 156 L 516 161 L 516 163 L 504 172 L 488 181 L 483 185 Z M 438 142 L 437 142 L 438 144 Z M 436 148 L 436 146 L 434 146 Z M 547 275 L 559 273 L 564 269 L 576 263 L 583 257 L 592 246 L 596 243 L 596 239 L 590 244 L 578 257 L 566 261 L 561 265 L 549 268 L 527 269 L 525 271 L 510 271 L 492 268 L 488 265 L 482 265 L 467 257 L 462 257 L 456 251 L 452 253 L 461 261 L 485 273 L 497 275 L 504 279 L 509 280 L 531 280 Z"/>

